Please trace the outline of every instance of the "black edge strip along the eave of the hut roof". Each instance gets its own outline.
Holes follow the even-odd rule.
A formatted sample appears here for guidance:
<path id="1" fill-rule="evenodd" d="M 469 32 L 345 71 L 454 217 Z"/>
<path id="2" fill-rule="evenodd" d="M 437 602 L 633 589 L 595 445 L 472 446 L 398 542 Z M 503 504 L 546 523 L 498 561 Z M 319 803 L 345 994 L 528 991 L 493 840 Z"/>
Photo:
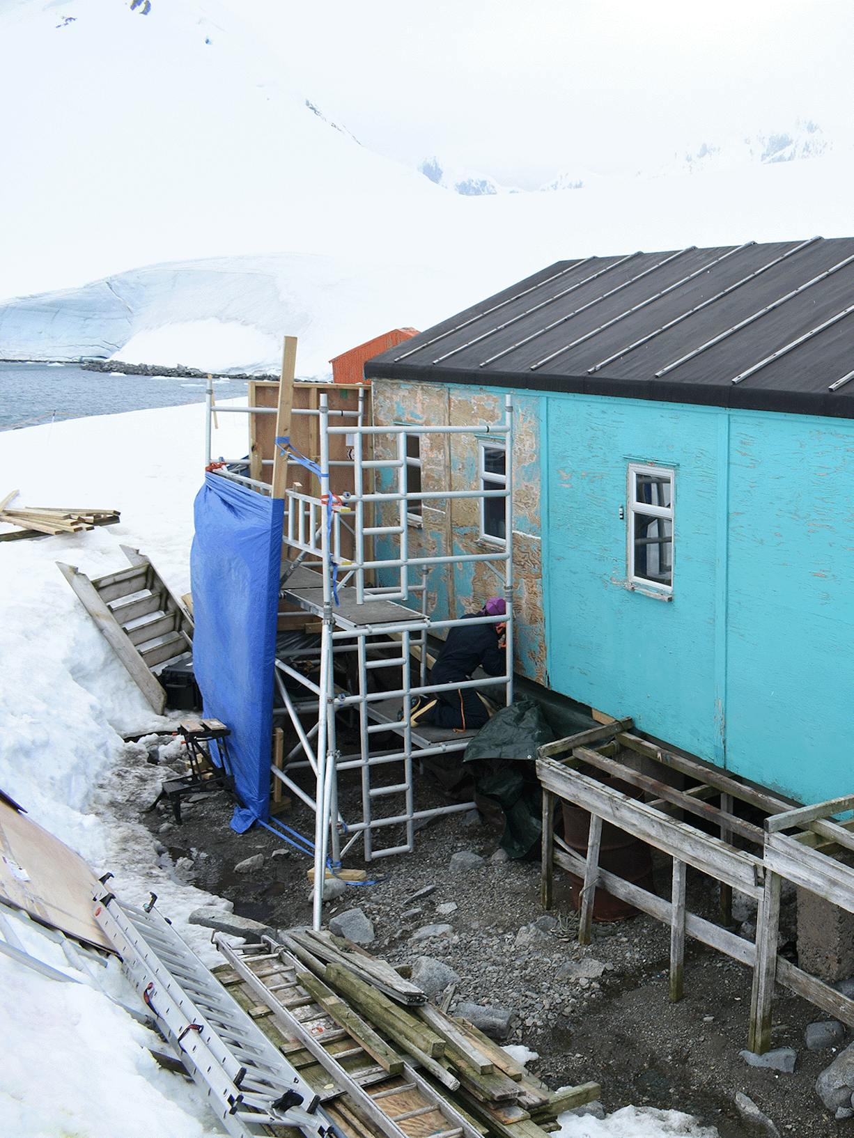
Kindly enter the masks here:
<path id="1" fill-rule="evenodd" d="M 525 391 L 565 391 L 573 395 L 605 395 L 622 399 L 649 399 L 655 403 L 689 403 L 708 407 L 732 407 L 741 411 L 777 411 L 795 415 L 823 415 L 829 419 L 854 419 L 854 398 L 829 391 L 793 391 L 750 388 L 749 385 L 667 382 L 664 379 L 606 379 L 601 376 L 544 376 L 532 372 L 470 371 L 429 364 L 380 363 L 369 360 L 366 379 L 413 380 L 429 384 L 462 384 L 469 387 L 504 387 Z"/>

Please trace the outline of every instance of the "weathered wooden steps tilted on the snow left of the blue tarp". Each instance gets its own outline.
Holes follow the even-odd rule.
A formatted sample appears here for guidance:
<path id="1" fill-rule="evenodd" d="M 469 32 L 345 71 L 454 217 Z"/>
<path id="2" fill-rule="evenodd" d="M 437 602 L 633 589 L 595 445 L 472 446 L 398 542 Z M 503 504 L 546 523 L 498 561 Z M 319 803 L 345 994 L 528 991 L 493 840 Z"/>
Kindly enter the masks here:
<path id="1" fill-rule="evenodd" d="M 57 561 L 105 640 L 154 710 L 163 714 L 166 692 L 155 668 L 192 651 L 192 618 L 139 550 L 121 546 L 129 569 L 90 580 L 75 566 Z"/>

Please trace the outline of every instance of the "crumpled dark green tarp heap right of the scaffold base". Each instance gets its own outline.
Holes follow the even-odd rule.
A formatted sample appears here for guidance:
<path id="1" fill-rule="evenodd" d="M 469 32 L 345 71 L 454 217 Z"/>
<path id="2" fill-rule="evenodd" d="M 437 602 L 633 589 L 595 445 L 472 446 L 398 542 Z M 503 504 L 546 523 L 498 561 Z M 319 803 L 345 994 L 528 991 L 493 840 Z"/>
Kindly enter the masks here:
<path id="1" fill-rule="evenodd" d="M 553 739 L 539 704 L 523 695 L 496 711 L 463 752 L 463 762 L 474 765 L 475 800 L 501 808 L 500 844 L 511 858 L 525 857 L 540 842 L 541 791 L 534 760 L 537 748 Z"/>

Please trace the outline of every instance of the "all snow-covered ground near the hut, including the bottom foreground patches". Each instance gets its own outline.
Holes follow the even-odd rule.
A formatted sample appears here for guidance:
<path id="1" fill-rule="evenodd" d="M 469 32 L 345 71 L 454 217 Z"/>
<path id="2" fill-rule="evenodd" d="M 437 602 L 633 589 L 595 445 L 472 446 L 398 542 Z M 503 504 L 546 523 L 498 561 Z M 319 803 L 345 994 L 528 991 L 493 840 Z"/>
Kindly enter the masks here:
<path id="1" fill-rule="evenodd" d="M 139 901 L 154 890 L 159 908 L 213 960 L 207 932 L 186 917 L 202 905 L 228 902 L 184 881 L 139 822 L 161 776 L 120 734 L 167 721 L 153 715 L 56 568 L 66 561 L 99 576 L 124 568 L 120 545 L 132 545 L 175 592 L 187 592 L 203 422 L 204 407 L 191 405 L 2 436 L 0 494 L 19 488 L 23 503 L 115 506 L 122 522 L 0 544 L 0 787 L 98 874 L 112 871 L 120 896 Z M 239 452 L 245 432 L 243 417 L 223 415 L 214 450 Z M 56 945 L 17 931 L 33 955 L 69 971 Z M 115 962 L 106 986 L 136 1004 Z M 1 1135 L 220 1132 L 195 1089 L 148 1054 L 157 1037 L 85 983 L 63 984 L 0 955 L 0 1022 Z M 715 1138 L 687 1115 L 633 1107 L 603 1121 L 567 1115 L 561 1122 L 564 1138 Z"/>

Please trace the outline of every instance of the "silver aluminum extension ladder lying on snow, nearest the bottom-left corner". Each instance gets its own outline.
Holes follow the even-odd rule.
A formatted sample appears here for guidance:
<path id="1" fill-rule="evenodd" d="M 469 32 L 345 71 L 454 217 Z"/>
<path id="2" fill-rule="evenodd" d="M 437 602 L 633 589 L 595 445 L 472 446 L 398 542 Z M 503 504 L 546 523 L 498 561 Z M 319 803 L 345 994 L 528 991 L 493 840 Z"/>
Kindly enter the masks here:
<path id="1" fill-rule="evenodd" d="M 109 876 L 109 875 L 107 875 Z M 343 1138 L 320 1099 L 155 908 L 118 901 L 105 887 L 95 917 L 157 1025 L 235 1138 L 297 1128 Z"/>

